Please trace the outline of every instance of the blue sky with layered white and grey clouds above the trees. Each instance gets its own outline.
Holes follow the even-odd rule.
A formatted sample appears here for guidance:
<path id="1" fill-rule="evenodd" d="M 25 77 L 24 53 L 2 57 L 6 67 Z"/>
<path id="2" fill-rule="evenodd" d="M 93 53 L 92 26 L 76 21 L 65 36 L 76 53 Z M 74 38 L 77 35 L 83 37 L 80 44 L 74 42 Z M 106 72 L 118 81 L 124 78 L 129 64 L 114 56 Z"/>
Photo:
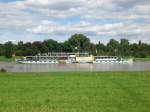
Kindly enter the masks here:
<path id="1" fill-rule="evenodd" d="M 0 0 L 0 43 L 63 42 L 75 33 L 150 43 L 150 0 Z"/>

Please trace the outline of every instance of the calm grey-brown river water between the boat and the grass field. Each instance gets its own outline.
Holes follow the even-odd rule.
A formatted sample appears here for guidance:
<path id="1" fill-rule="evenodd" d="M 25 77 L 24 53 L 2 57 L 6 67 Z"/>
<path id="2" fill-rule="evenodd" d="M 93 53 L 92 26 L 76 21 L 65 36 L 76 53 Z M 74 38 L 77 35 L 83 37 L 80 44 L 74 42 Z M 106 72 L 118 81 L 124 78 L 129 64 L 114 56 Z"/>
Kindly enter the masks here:
<path id="1" fill-rule="evenodd" d="M 8 72 L 149 71 L 150 61 L 133 64 L 17 64 L 0 62 Z"/>

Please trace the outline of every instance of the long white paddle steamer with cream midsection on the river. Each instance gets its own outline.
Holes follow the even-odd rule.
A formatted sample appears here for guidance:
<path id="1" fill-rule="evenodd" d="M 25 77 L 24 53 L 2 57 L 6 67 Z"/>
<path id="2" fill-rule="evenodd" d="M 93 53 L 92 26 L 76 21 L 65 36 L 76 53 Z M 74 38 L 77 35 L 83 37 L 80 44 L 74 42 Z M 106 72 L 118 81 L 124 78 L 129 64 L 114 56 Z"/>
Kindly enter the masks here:
<path id="1" fill-rule="evenodd" d="M 117 56 L 93 56 L 89 53 L 48 53 L 37 56 L 26 56 L 17 60 L 24 64 L 57 64 L 57 63 L 133 63 L 132 59 L 118 58 Z"/>

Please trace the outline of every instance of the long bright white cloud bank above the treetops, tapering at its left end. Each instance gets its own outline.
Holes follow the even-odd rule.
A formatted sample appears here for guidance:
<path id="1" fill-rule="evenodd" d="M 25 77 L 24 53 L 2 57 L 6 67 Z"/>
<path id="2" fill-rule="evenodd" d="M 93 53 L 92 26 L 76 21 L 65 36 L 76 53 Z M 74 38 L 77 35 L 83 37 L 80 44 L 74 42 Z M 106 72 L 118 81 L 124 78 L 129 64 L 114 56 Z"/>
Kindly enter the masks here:
<path id="1" fill-rule="evenodd" d="M 134 39 L 136 39 L 137 35 L 149 34 L 149 29 L 149 25 L 145 26 L 140 24 L 90 24 L 83 21 L 78 24 L 61 25 L 47 21 L 46 24 L 41 24 L 28 31 L 37 34 L 49 35 L 55 34 L 66 36 L 71 35 L 73 33 L 84 33 L 96 37 L 105 36 L 108 38 L 124 38 L 124 36 L 127 36 L 126 38 L 129 37 L 130 39 L 131 37 L 134 37 Z"/>

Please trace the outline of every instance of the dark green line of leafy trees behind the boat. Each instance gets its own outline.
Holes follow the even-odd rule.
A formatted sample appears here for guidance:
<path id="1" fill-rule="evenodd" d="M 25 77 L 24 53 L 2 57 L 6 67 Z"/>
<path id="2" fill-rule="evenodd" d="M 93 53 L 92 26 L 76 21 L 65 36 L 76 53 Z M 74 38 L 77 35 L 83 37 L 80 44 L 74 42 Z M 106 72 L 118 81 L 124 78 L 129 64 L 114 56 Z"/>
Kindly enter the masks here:
<path id="1" fill-rule="evenodd" d="M 0 56 L 11 58 L 16 56 L 32 56 L 39 53 L 48 52 L 89 52 L 93 55 L 115 55 L 122 57 L 144 58 L 150 56 L 150 44 L 130 43 L 127 39 L 110 39 L 107 44 L 100 41 L 96 44 L 92 43 L 89 38 L 83 34 L 74 34 L 65 42 L 57 42 L 53 39 L 34 42 L 6 42 L 0 44 Z"/>

